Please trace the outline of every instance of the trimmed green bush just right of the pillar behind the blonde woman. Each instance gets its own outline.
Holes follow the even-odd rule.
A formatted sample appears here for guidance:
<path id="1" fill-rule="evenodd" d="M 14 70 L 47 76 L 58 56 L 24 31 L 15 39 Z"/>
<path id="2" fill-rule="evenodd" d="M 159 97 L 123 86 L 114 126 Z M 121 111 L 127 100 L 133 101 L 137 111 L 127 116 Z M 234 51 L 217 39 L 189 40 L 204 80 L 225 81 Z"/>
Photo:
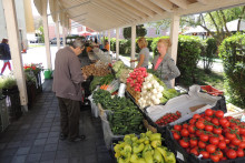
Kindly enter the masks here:
<path id="1" fill-rule="evenodd" d="M 186 85 L 196 82 L 195 74 L 198 73 L 196 65 L 200 57 L 200 40 L 196 37 L 178 37 L 177 67 L 182 73 L 178 80 Z"/>

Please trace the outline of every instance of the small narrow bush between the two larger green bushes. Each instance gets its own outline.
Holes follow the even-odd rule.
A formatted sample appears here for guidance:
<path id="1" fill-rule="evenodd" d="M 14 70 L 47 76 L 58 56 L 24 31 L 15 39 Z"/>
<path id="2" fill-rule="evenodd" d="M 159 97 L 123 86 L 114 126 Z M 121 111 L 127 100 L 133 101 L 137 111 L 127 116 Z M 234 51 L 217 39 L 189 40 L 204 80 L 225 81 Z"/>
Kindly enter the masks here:
<path id="1" fill-rule="evenodd" d="M 214 62 L 215 54 L 217 52 L 217 42 L 214 38 L 208 38 L 203 42 L 203 62 L 204 71 L 210 73 L 210 68 Z"/>

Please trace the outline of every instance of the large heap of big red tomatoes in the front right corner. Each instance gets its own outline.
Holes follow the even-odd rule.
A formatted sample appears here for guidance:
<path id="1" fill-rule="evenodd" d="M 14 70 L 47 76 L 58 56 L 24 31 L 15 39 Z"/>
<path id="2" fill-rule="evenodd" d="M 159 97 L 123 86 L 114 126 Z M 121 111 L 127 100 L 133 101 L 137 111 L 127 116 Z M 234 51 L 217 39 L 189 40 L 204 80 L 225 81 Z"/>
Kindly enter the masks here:
<path id="1" fill-rule="evenodd" d="M 224 112 L 207 109 L 195 114 L 188 123 L 176 124 L 173 136 L 188 153 L 214 162 L 243 157 L 245 150 L 245 123 Z"/>

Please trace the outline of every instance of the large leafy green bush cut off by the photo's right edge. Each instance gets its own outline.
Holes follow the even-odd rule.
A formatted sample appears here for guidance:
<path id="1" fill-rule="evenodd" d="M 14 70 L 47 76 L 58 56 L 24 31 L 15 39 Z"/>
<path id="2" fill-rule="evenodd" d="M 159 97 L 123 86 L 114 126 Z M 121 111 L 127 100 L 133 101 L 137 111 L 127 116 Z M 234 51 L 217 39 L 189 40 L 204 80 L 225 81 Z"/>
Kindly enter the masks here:
<path id="1" fill-rule="evenodd" d="M 225 75 L 225 91 L 228 101 L 245 108 L 245 35 L 226 38 L 219 47 Z"/>

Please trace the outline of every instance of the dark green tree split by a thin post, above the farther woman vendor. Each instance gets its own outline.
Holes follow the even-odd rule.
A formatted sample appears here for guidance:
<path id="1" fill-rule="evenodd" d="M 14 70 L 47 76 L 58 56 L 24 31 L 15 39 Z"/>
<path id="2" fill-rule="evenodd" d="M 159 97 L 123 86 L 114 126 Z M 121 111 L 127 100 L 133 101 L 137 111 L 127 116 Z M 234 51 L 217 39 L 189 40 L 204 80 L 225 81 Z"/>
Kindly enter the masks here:
<path id="1" fill-rule="evenodd" d="M 146 32 L 144 24 L 136 26 L 136 38 L 145 37 Z M 131 27 L 124 28 L 124 38 L 131 39 Z"/>

